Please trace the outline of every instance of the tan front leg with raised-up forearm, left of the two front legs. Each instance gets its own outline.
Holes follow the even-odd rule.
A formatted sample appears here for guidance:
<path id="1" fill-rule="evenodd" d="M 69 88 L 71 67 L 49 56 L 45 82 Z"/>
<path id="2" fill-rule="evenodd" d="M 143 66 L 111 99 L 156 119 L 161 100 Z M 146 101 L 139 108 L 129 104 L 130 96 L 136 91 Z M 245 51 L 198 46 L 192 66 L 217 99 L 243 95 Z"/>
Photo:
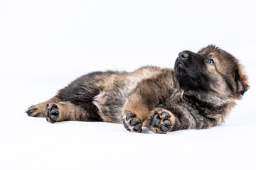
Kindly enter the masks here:
<path id="1" fill-rule="evenodd" d="M 147 79 L 134 89 L 123 107 L 124 128 L 131 132 L 141 132 L 144 121 L 153 118 L 151 111 L 162 98 L 161 86 L 157 82 L 157 79 Z"/>

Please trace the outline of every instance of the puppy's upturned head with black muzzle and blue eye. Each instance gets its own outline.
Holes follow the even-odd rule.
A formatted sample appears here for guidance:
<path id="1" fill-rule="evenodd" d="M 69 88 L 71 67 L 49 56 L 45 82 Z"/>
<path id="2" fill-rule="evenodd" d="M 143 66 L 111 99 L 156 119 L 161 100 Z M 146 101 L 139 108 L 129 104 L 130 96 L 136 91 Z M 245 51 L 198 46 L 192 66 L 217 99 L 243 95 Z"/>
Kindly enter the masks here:
<path id="1" fill-rule="evenodd" d="M 180 52 L 174 69 L 185 94 L 206 101 L 238 99 L 249 89 L 242 65 L 233 55 L 214 45 L 197 53 Z"/>

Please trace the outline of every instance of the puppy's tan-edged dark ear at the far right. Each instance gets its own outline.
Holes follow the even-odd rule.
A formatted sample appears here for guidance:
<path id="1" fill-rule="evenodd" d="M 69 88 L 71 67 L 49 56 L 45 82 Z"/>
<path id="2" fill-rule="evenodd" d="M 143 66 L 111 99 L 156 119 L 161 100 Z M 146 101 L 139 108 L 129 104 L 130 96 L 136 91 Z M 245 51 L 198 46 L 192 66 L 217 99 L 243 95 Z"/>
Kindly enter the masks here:
<path id="1" fill-rule="evenodd" d="M 235 69 L 235 82 L 237 85 L 237 91 L 236 93 L 239 95 L 245 94 L 245 91 L 247 91 L 250 86 L 247 83 L 247 76 L 242 72 L 242 68 L 238 67 Z"/>

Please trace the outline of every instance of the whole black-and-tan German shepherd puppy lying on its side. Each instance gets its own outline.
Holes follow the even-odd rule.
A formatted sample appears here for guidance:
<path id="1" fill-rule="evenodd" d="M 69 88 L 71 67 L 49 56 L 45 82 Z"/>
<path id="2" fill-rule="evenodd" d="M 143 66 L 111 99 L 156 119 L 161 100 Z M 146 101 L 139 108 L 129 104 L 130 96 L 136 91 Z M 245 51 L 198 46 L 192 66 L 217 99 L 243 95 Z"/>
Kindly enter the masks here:
<path id="1" fill-rule="evenodd" d="M 249 89 L 238 60 L 214 45 L 178 54 L 174 69 L 142 67 L 134 72 L 92 72 L 28 108 L 50 123 L 123 123 L 157 133 L 204 129 L 223 123 L 235 100 Z"/>

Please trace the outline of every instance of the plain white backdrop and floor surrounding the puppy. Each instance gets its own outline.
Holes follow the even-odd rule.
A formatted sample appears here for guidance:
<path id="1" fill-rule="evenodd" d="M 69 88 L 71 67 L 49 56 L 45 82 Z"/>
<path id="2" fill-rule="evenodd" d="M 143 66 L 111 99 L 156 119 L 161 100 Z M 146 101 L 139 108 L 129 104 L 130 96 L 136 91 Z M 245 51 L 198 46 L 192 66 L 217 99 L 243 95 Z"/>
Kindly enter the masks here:
<path id="1" fill-rule="evenodd" d="M 0 169 L 256 169 L 254 1 L 0 0 Z M 250 90 L 226 123 L 168 135 L 111 123 L 46 123 L 28 106 L 92 71 L 174 67 L 215 44 Z"/>

